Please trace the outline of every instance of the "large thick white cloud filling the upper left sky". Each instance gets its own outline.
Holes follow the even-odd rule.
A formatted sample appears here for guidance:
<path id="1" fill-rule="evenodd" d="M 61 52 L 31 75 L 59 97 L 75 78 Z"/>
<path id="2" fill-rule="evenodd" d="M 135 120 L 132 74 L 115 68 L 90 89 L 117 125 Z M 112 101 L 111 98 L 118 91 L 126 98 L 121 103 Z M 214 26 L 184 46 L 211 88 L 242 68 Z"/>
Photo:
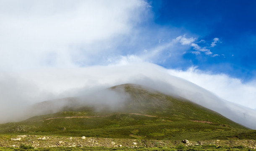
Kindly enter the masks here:
<path id="1" fill-rule="evenodd" d="M 146 8 L 141 0 L 0 1 L 0 68 L 90 64 L 91 56 L 111 53 Z"/>

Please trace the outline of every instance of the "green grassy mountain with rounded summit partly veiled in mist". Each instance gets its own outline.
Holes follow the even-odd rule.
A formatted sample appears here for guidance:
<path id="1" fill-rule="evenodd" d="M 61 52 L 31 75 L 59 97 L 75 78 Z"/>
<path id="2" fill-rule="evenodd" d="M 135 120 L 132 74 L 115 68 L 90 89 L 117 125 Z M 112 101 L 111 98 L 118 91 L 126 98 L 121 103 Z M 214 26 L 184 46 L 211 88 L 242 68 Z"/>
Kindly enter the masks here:
<path id="1" fill-rule="evenodd" d="M 134 139 L 254 139 L 250 130 L 180 97 L 135 84 L 34 104 L 37 116 L 0 125 L 4 134 Z"/>

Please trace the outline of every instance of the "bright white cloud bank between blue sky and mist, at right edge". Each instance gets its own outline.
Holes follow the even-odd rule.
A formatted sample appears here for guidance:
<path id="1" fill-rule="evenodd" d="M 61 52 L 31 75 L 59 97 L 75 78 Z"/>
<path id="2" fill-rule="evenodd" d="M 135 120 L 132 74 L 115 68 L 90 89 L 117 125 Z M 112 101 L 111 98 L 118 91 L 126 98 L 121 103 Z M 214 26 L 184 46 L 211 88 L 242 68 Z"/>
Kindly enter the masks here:
<path id="1" fill-rule="evenodd" d="M 231 78 L 225 74 L 205 73 L 194 67 L 186 71 L 170 70 L 170 74 L 184 78 L 204 89 L 207 89 L 222 99 L 256 109 L 256 83 L 251 81 L 242 83 L 238 78 Z"/>

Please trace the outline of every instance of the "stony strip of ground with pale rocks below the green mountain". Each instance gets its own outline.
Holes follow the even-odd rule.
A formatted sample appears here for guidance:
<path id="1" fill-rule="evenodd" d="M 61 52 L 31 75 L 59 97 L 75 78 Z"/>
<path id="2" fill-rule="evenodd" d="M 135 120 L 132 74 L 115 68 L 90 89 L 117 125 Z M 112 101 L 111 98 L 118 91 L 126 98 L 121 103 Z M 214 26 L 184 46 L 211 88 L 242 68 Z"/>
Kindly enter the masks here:
<path id="1" fill-rule="evenodd" d="M 37 136 L 37 135 L 0 135 L 0 147 L 18 148 L 21 145 L 30 145 L 34 148 L 42 147 L 175 147 L 181 144 L 185 146 L 216 145 L 216 146 L 245 146 L 256 148 L 256 140 L 209 140 L 209 141 L 169 141 L 169 140 L 139 140 L 119 138 L 88 138 L 88 137 L 64 137 L 64 136 Z"/>

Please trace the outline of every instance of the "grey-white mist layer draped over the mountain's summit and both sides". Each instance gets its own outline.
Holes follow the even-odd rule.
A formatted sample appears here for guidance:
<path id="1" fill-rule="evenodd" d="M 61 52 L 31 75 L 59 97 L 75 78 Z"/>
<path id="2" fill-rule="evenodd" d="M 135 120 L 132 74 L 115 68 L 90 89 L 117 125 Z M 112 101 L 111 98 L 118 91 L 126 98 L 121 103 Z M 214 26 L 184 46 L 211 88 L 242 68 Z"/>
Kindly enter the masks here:
<path id="1" fill-rule="evenodd" d="M 24 120 L 26 117 L 23 113 L 29 105 L 65 97 L 82 96 L 87 104 L 99 108 L 106 105 L 117 108 L 122 106 L 124 98 L 129 96 L 123 92 L 102 90 L 119 84 L 135 83 L 164 94 L 191 100 L 235 122 L 256 129 L 255 110 L 227 102 L 206 89 L 170 75 L 165 68 L 150 63 L 95 66 L 71 69 L 69 72 L 61 69 L 24 72 L 2 76 L 1 83 L 5 84 L 0 86 L 0 97 L 6 100 L 1 102 L 1 123 Z M 59 103 L 57 106 L 62 107 L 67 104 Z M 49 110 L 49 107 L 44 108 Z M 52 112 L 59 110 L 60 108 L 53 109 Z M 30 112 L 29 116 L 38 114 L 40 113 L 34 111 Z"/>

